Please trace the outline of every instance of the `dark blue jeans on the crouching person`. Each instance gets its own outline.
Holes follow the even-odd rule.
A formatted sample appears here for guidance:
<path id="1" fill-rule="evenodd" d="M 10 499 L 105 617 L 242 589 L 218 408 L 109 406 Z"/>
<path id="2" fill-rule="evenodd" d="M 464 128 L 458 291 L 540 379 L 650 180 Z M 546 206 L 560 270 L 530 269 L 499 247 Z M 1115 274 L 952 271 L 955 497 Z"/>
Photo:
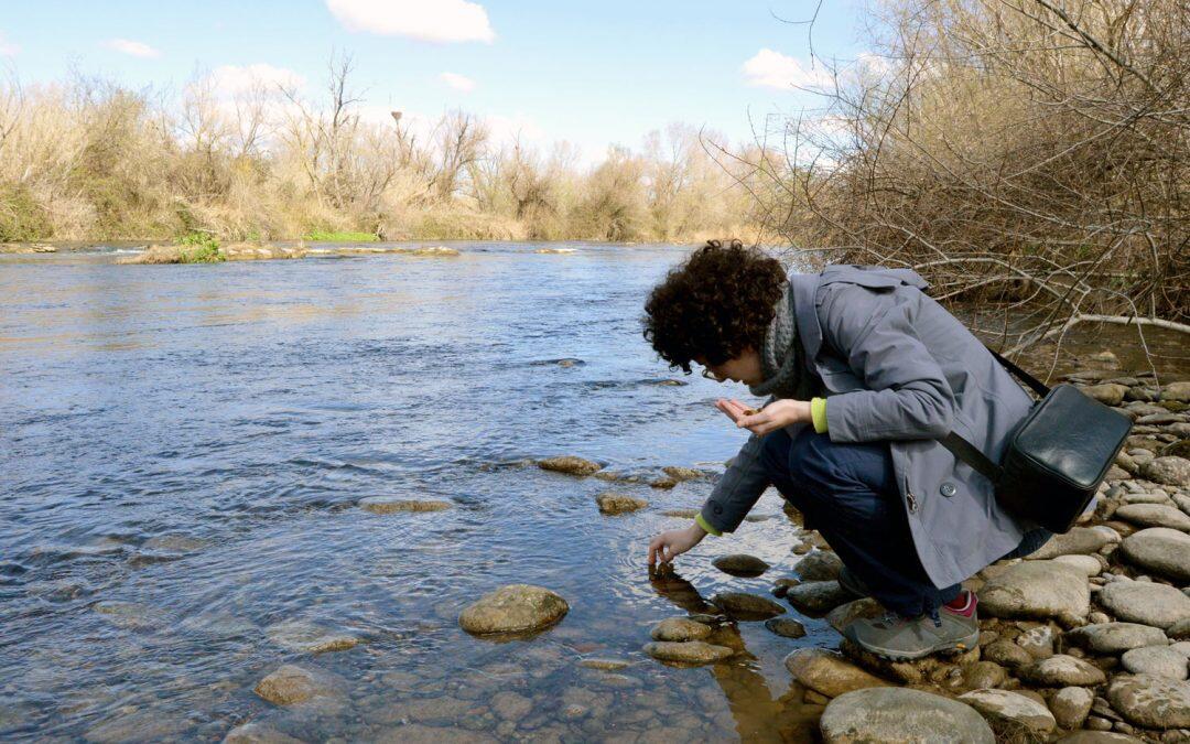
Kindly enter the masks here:
<path id="1" fill-rule="evenodd" d="M 765 434 L 760 461 L 777 490 L 806 517 L 884 607 L 913 618 L 959 595 L 926 575 L 887 442 L 839 444 L 806 427 Z"/>

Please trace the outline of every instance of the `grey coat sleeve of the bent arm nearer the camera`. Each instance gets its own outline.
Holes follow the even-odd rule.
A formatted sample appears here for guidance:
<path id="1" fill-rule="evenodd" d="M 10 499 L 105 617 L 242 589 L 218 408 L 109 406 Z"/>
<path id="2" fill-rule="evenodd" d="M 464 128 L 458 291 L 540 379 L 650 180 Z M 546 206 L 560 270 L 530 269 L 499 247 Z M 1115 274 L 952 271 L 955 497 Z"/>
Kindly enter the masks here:
<path id="1" fill-rule="evenodd" d="M 832 395 L 826 407 L 832 442 L 937 439 L 951 431 L 954 394 L 917 337 L 923 295 L 914 288 L 831 287 L 819 307 L 823 342 L 866 389 Z"/>

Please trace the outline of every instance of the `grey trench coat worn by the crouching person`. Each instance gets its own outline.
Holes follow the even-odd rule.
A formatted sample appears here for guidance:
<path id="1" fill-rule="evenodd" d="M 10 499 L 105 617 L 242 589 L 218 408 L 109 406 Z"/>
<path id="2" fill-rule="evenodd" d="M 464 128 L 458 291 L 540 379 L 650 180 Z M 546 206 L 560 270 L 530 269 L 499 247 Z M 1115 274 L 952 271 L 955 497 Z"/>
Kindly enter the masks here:
<path id="1" fill-rule="evenodd" d="M 997 461 L 1032 400 L 982 343 L 906 269 L 790 274 L 798 342 L 827 390 L 832 442 L 888 440 L 921 564 L 958 583 L 1017 548 L 1033 523 L 1003 511 L 992 484 L 938 438 L 957 431 Z M 796 436 L 804 424 L 789 426 Z M 769 487 L 752 434 L 702 507 L 733 532 Z"/>

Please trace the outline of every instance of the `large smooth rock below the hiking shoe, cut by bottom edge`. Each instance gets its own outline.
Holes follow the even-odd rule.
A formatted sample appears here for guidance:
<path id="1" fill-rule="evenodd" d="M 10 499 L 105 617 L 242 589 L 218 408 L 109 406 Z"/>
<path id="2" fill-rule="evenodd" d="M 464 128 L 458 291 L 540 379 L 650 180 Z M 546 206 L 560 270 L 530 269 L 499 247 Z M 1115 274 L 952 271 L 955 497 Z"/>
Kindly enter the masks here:
<path id="1" fill-rule="evenodd" d="M 962 742 L 996 737 L 975 708 L 907 688 L 858 689 L 831 701 L 820 721 L 827 744 L 858 742 Z"/>

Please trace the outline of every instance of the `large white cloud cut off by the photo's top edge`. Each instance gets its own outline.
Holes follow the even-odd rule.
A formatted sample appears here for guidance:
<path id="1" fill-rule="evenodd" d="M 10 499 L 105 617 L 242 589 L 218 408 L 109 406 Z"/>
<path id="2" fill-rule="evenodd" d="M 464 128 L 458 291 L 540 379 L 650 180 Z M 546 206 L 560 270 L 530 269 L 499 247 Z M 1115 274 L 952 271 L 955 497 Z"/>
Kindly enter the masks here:
<path id="1" fill-rule="evenodd" d="M 326 0 L 349 31 L 422 42 L 491 42 L 488 12 L 466 0 Z"/>

